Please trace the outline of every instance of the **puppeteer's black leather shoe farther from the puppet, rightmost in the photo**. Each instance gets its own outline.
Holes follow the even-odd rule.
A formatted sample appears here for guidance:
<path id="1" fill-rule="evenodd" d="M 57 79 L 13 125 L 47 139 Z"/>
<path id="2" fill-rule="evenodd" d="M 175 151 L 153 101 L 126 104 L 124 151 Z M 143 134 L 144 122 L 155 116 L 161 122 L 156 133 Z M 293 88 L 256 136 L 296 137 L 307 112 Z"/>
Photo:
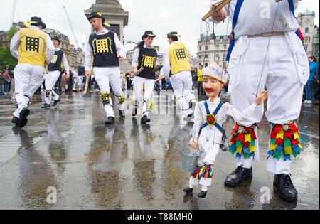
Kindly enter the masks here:
<path id="1" fill-rule="evenodd" d="M 277 194 L 280 198 L 287 201 L 297 201 L 298 191 L 290 178 L 291 174 L 274 174 L 273 186 L 277 188 Z"/>

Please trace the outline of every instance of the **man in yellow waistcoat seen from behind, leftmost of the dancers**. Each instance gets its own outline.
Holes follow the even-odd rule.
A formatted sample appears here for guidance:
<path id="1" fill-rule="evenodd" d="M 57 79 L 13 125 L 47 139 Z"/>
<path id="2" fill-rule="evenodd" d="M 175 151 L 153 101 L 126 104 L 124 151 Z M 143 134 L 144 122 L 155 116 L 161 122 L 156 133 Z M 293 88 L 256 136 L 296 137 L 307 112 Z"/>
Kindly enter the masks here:
<path id="1" fill-rule="evenodd" d="M 39 17 L 32 17 L 27 28 L 18 31 L 10 43 L 11 54 L 18 59 L 14 69 L 14 99 L 17 109 L 12 123 L 26 126 L 30 110 L 27 108 L 34 92 L 43 82 L 45 62 L 50 63 L 55 47 L 48 34 L 41 31 L 46 24 Z"/>

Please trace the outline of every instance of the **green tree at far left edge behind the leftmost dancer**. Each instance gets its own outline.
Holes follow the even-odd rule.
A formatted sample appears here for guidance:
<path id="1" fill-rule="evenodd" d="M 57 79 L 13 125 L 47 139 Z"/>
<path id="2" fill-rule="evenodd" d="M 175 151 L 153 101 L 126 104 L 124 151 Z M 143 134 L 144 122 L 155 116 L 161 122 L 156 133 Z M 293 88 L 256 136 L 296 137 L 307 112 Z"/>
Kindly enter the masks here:
<path id="1" fill-rule="evenodd" d="M 18 31 L 18 28 L 12 26 L 7 33 L 8 41 L 10 43 L 11 38 Z M 9 65 L 11 70 L 14 70 L 18 61 L 14 56 L 11 55 L 10 46 L 6 46 L 5 48 L 0 47 L 0 70 L 4 69 L 6 65 Z"/>

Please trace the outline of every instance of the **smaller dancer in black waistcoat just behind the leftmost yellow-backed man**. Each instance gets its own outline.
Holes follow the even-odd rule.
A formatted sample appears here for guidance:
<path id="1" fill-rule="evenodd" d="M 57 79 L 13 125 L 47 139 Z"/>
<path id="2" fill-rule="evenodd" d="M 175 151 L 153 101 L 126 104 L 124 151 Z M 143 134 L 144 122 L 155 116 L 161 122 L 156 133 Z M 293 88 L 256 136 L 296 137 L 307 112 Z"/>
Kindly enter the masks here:
<path id="1" fill-rule="evenodd" d="M 46 102 L 41 108 L 49 108 L 51 103 L 51 98 L 53 95 L 53 106 L 60 102 L 59 95 L 53 90 L 55 82 L 57 82 L 62 68 L 65 69 L 66 73 L 69 75 L 69 64 L 67 58 L 65 58 L 65 53 L 58 47 L 60 45 L 60 38 L 54 36 L 51 38 L 53 46 L 55 46 L 55 55 L 53 60 L 50 61 L 48 65 L 48 74 L 45 77 L 45 87 L 46 87 Z M 61 67 L 63 65 L 63 67 Z"/>

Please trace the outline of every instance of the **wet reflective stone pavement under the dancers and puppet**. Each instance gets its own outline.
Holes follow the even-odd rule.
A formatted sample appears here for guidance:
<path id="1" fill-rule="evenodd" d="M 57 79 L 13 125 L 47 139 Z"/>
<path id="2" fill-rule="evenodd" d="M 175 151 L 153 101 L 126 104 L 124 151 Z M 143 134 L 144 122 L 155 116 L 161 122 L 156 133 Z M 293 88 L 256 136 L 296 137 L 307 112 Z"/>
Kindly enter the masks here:
<path id="1" fill-rule="evenodd" d="M 188 149 L 193 124 L 184 121 L 170 94 L 154 92 L 150 125 L 132 117 L 128 99 L 126 118 L 115 110 L 110 127 L 105 127 L 96 92 L 85 97 L 63 93 L 50 109 L 41 109 L 36 94 L 23 129 L 11 124 L 11 97 L 0 96 L 0 209 L 319 209 L 319 105 L 303 106 L 297 120 L 304 147 L 292 163 L 297 203 L 283 201 L 273 191 L 274 175 L 265 170 L 270 132 L 265 119 L 258 124 L 260 161 L 253 166 L 252 180 L 236 188 L 224 186 L 235 162 L 229 152 L 220 151 L 213 185 L 201 199 L 200 186 L 193 196 L 183 193 L 189 174 L 181 170 L 181 151 Z M 229 118 L 227 133 L 233 124 Z M 53 193 L 48 187 L 56 189 L 56 203 L 47 201 Z M 262 200 L 268 196 L 270 201 Z"/>

